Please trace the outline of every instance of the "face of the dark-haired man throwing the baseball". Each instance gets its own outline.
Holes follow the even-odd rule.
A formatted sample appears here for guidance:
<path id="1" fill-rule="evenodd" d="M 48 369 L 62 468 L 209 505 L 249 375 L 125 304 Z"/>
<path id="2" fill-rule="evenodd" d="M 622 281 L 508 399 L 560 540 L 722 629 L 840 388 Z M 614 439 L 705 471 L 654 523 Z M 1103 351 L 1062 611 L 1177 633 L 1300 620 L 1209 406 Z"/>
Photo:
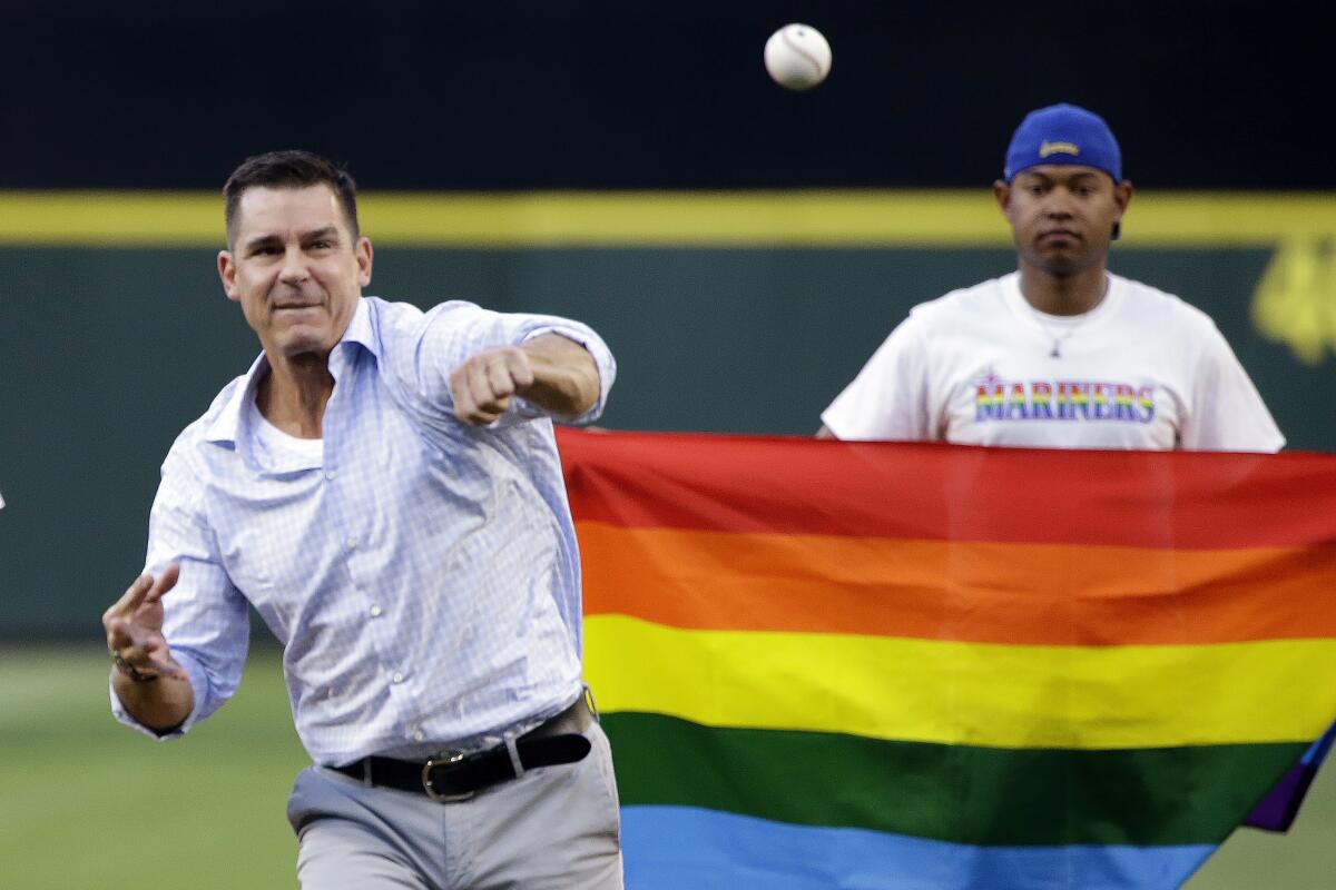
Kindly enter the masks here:
<path id="1" fill-rule="evenodd" d="M 248 188 L 218 274 L 265 351 L 329 355 L 371 282 L 371 242 L 353 238 L 329 185 Z"/>

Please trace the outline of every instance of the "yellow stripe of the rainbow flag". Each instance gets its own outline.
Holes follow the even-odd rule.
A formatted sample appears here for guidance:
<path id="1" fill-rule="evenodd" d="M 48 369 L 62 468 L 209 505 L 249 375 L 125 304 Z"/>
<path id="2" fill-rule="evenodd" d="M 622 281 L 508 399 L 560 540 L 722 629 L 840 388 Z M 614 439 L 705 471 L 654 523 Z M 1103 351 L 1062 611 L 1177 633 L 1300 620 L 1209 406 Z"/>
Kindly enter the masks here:
<path id="1" fill-rule="evenodd" d="M 1336 640 L 1081 648 L 585 620 L 605 711 L 989 747 L 1305 742 L 1336 715 Z"/>

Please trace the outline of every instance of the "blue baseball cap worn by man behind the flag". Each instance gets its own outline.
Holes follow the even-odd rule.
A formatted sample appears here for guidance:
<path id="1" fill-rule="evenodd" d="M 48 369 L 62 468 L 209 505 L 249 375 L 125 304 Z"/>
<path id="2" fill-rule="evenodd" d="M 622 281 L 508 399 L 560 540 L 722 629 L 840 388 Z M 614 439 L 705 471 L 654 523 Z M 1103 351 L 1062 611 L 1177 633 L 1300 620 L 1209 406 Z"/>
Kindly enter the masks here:
<path id="1" fill-rule="evenodd" d="M 1122 152 L 1100 115 L 1061 103 L 1031 111 L 1015 128 L 1006 149 L 1002 179 L 1039 164 L 1083 164 L 1122 181 Z"/>

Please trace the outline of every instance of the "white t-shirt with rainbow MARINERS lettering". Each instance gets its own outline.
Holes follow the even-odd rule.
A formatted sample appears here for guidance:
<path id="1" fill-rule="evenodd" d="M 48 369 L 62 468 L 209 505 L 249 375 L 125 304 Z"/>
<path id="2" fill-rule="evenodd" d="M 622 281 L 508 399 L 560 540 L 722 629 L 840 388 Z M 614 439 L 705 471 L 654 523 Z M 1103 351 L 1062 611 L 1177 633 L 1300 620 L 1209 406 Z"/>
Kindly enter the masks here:
<path id="1" fill-rule="evenodd" d="M 1057 356 L 1054 356 L 1057 351 Z M 1090 312 L 1037 312 L 1019 272 L 914 307 L 822 414 L 840 439 L 1279 451 L 1205 312 L 1109 275 Z"/>

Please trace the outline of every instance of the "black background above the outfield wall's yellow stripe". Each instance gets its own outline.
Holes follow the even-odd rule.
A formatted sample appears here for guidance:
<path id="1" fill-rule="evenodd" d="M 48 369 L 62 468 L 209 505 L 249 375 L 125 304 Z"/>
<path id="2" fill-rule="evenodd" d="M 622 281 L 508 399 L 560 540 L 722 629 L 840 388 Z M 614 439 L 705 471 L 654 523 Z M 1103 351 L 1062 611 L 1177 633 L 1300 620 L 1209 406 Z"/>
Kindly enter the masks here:
<path id="1" fill-rule="evenodd" d="M 770 33 L 830 80 L 772 88 Z M 301 147 L 366 188 L 979 185 L 1102 113 L 1156 188 L 1331 188 L 1336 4 L 9 3 L 0 188 L 216 188 Z"/>

